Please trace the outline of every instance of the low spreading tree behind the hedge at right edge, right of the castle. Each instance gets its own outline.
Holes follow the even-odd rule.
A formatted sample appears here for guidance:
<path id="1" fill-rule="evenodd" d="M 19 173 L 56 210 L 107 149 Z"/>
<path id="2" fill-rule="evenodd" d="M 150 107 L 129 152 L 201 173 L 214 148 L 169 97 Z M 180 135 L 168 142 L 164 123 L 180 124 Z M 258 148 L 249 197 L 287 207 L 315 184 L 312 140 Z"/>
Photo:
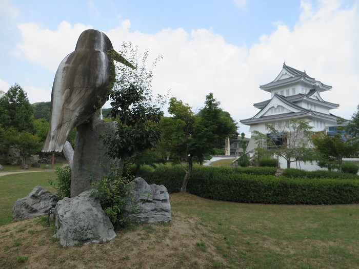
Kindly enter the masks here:
<path id="1" fill-rule="evenodd" d="M 359 150 L 359 139 L 343 139 L 341 134 L 329 136 L 325 132 L 318 132 L 312 137 L 315 150 L 324 160 L 336 160 L 338 170 L 342 171 L 343 158 L 356 153 Z"/>

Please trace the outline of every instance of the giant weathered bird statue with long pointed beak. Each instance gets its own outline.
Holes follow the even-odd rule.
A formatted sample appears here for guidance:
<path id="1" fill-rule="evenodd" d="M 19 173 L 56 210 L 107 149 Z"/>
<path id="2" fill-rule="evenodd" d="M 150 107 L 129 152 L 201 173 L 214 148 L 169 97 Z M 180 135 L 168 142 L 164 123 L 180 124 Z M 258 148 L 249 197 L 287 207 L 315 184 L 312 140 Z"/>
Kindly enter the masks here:
<path id="1" fill-rule="evenodd" d="M 62 152 L 71 130 L 94 118 L 105 104 L 116 75 L 113 60 L 135 69 L 114 51 L 106 34 L 93 29 L 81 33 L 75 50 L 61 61 L 55 74 L 43 152 Z"/>

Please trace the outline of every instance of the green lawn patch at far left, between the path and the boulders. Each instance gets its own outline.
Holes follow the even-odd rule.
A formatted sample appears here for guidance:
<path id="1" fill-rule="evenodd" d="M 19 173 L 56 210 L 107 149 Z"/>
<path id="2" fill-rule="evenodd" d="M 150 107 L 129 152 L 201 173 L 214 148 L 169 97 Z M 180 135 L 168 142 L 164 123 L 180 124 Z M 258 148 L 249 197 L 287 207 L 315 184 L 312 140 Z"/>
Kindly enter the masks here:
<path id="1" fill-rule="evenodd" d="M 48 179 L 54 180 L 56 174 L 51 172 L 19 173 L 0 177 L 0 225 L 10 223 L 12 208 L 18 198 L 27 196 L 36 185 L 53 192 Z"/>

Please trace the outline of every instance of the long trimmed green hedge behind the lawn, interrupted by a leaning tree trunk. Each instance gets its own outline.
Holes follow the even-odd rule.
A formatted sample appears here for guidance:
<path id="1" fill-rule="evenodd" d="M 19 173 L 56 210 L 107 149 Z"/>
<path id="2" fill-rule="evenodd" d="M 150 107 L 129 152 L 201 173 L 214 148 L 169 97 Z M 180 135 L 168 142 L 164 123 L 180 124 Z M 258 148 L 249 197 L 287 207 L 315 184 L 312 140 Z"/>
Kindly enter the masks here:
<path id="1" fill-rule="evenodd" d="M 194 167 L 187 191 L 204 198 L 245 203 L 359 203 L 359 180 L 275 177 L 257 175 L 252 169 L 260 168 Z M 181 189 L 184 175 L 178 165 L 161 165 L 144 179 L 163 184 L 169 193 L 175 193 Z"/>

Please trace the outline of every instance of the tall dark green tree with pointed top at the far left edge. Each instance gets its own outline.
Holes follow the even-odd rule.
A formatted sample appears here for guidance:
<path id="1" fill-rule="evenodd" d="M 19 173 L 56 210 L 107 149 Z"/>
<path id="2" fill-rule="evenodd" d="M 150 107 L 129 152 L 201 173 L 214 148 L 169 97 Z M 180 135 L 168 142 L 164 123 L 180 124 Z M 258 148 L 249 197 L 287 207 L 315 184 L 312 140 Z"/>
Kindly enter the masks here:
<path id="1" fill-rule="evenodd" d="M 13 127 L 17 132 L 35 132 L 32 107 L 18 84 L 0 97 L 0 122 L 3 128 Z"/>

